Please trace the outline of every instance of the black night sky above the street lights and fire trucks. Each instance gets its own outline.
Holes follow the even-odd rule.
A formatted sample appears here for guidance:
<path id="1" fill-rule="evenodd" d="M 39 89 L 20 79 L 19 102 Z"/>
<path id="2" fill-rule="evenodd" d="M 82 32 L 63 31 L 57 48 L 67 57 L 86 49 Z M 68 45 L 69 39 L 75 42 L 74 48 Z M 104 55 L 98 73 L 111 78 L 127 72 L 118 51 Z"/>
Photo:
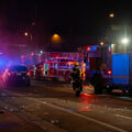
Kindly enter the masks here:
<path id="1" fill-rule="evenodd" d="M 132 8 L 127 1 L 1 0 L 0 28 L 12 34 L 32 30 L 41 41 L 56 32 L 98 37 L 106 33 L 111 11 L 116 13 L 114 22 L 131 24 Z"/>

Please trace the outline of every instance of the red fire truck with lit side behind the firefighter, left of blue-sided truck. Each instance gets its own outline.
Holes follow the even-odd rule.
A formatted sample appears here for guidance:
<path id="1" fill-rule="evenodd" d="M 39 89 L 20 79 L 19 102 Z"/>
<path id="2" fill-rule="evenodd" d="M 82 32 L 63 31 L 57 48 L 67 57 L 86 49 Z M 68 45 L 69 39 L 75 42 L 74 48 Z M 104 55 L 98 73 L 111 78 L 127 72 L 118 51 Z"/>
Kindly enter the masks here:
<path id="1" fill-rule="evenodd" d="M 69 81 L 70 70 L 77 59 L 78 53 L 47 53 L 44 61 L 36 65 L 35 77 Z"/>

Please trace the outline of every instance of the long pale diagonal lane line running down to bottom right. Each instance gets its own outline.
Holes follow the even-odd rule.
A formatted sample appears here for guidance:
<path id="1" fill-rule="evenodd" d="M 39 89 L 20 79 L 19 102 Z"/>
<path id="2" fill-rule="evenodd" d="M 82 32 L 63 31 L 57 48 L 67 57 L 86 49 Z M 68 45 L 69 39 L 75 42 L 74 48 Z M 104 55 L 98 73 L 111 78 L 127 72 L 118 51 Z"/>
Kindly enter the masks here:
<path id="1" fill-rule="evenodd" d="M 14 94 L 14 95 L 16 95 L 16 96 L 24 97 L 24 95 L 16 94 L 16 92 L 12 92 L 12 91 L 11 91 L 11 92 L 9 91 L 9 94 Z M 48 103 L 48 102 L 46 102 L 46 101 L 41 101 L 41 100 L 34 99 L 34 98 L 31 98 L 31 97 L 30 97 L 30 98 L 26 97 L 26 98 L 30 99 L 30 100 L 32 100 L 32 101 L 36 101 L 36 102 L 38 102 L 38 103 L 43 103 L 43 105 L 50 106 L 50 107 L 52 107 L 52 108 L 55 108 L 55 109 L 58 109 L 58 110 L 68 112 L 68 113 L 70 113 L 70 114 L 77 116 L 77 117 L 82 118 L 82 119 L 86 119 L 86 120 L 88 120 L 88 121 L 96 122 L 96 123 L 98 123 L 98 124 L 105 125 L 105 127 L 110 128 L 110 129 L 112 129 L 112 130 L 116 130 L 116 131 L 119 131 L 119 132 L 128 132 L 127 130 L 123 130 L 123 129 L 120 129 L 120 128 L 118 128 L 118 127 L 114 127 L 114 125 L 111 125 L 111 124 L 101 122 L 101 121 L 96 120 L 96 119 L 90 118 L 90 117 L 82 116 L 82 114 L 77 113 L 77 112 L 74 112 L 74 111 L 69 111 L 69 110 L 67 110 L 67 109 L 65 109 L 65 108 L 62 108 L 62 107 L 58 107 L 58 106 Z"/>

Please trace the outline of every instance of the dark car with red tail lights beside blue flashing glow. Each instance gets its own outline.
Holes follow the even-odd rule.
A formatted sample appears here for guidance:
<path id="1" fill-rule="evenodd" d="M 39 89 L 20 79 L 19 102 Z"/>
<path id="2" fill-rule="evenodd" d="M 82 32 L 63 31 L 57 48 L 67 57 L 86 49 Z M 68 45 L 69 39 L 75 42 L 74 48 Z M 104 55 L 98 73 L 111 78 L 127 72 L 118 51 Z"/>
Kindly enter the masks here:
<path id="1" fill-rule="evenodd" d="M 7 85 L 25 85 L 30 86 L 30 73 L 26 66 L 10 66 L 4 72 Z"/>

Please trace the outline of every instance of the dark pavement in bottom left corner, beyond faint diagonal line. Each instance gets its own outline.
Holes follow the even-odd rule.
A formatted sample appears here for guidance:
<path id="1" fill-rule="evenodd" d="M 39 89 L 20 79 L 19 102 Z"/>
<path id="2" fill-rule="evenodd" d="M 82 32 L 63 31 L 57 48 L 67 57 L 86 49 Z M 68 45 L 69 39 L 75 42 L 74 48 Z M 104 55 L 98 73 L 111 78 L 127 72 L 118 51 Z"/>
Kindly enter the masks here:
<path id="1" fill-rule="evenodd" d="M 44 132 L 38 127 L 21 119 L 12 112 L 0 113 L 0 132 Z"/>

